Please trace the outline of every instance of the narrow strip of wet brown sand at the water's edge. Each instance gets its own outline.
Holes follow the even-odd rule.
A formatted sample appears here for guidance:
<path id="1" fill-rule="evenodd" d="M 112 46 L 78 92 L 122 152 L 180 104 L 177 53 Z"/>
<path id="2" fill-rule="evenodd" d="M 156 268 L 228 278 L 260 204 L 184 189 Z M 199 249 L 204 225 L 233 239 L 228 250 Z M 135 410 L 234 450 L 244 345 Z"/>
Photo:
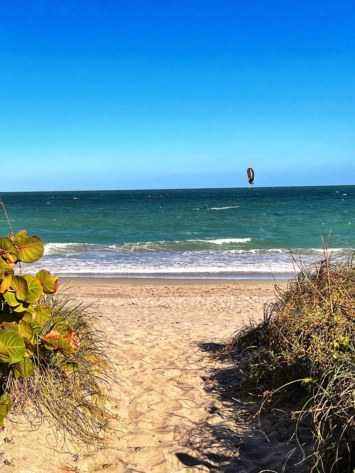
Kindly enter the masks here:
<path id="1" fill-rule="evenodd" d="M 62 277 L 62 283 L 74 285 L 149 285 L 149 286 L 228 286 L 228 285 L 285 285 L 289 279 L 179 279 L 179 278 L 120 278 L 120 277 Z"/>

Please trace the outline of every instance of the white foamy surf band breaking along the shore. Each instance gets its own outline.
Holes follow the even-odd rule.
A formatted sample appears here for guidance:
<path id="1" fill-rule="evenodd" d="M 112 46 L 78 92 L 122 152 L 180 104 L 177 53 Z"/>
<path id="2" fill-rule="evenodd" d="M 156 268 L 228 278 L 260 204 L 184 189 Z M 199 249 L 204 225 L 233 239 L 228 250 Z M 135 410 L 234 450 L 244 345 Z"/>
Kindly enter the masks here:
<path id="1" fill-rule="evenodd" d="M 126 277 L 289 277 L 293 274 L 291 252 L 302 261 L 317 262 L 322 248 L 250 248 L 262 240 L 217 238 L 96 245 L 47 243 L 43 265 L 63 276 Z M 352 248 L 328 250 L 346 258 Z M 34 263 L 35 268 L 36 263 Z"/>

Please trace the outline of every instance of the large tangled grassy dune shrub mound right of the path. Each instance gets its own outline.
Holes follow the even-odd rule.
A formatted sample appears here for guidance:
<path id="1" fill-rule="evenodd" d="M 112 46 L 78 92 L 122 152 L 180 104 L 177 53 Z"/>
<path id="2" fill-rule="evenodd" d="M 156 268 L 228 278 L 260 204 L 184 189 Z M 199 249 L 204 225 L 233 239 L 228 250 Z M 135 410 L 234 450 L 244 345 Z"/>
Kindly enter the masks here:
<path id="1" fill-rule="evenodd" d="M 284 402 L 297 425 L 311 423 L 311 472 L 354 472 L 354 254 L 338 263 L 325 252 L 317 267 L 299 268 L 286 290 L 276 288 L 263 321 L 245 326 L 227 350 L 248 354 L 240 389 L 262 397 L 261 411 Z"/>

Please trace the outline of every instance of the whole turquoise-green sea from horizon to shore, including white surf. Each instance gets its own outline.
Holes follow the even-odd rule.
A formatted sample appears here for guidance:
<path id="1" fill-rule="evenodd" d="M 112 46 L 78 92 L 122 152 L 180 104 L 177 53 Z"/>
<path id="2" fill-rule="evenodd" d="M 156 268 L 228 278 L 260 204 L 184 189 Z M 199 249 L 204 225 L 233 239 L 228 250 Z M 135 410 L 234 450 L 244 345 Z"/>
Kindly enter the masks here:
<path id="1" fill-rule="evenodd" d="M 69 276 L 285 277 L 289 249 L 355 248 L 355 186 L 3 193 L 14 231 Z M 204 205 L 207 210 L 204 210 Z M 8 233 L 5 218 L 2 234 Z"/>

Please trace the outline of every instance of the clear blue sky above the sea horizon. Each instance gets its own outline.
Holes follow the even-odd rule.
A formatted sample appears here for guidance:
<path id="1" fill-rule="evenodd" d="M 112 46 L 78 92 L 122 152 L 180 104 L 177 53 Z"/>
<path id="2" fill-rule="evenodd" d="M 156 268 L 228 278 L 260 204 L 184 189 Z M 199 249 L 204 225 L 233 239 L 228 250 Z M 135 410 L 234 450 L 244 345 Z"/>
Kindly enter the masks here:
<path id="1" fill-rule="evenodd" d="M 2 191 L 355 184 L 353 0 L 0 15 Z"/>

